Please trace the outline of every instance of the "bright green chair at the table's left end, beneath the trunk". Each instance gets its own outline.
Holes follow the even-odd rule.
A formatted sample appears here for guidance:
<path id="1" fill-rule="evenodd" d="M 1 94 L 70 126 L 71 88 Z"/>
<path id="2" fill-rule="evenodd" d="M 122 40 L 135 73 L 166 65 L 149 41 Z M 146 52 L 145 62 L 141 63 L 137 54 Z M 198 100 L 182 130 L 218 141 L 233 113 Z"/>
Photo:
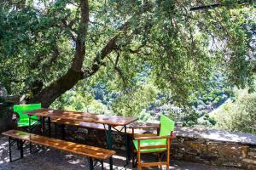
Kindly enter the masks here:
<path id="1" fill-rule="evenodd" d="M 29 119 L 24 111 L 32 111 L 41 109 L 41 104 L 30 104 L 30 105 L 14 105 L 14 112 L 18 115 L 18 127 L 28 127 Z M 31 125 L 35 124 L 38 120 L 38 116 L 31 116 Z"/>

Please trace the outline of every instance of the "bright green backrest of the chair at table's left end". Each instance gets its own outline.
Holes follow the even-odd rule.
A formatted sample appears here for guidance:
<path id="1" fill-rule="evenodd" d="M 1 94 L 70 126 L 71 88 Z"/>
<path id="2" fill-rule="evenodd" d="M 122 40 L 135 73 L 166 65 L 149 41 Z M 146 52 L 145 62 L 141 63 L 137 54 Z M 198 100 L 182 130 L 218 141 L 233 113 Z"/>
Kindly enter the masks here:
<path id="1" fill-rule="evenodd" d="M 24 111 L 32 111 L 41 109 L 41 104 L 30 104 L 30 105 L 14 105 L 14 111 L 19 114 L 20 120 L 28 119 L 28 116 L 24 114 Z"/>

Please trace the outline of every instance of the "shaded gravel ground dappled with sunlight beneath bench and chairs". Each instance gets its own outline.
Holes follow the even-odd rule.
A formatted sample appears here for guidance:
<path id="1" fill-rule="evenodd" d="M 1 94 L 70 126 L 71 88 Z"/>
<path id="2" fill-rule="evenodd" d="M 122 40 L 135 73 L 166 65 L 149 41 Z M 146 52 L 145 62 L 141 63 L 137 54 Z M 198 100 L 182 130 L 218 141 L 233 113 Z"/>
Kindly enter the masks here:
<path id="1" fill-rule="evenodd" d="M 19 150 L 12 147 L 14 156 L 19 156 Z M 29 154 L 28 147 L 25 149 L 25 156 L 18 161 L 9 162 L 8 139 L 0 135 L 0 169 L 1 170 L 79 170 L 89 169 L 87 159 L 83 156 L 74 156 L 60 150 L 52 150 L 45 147 L 33 146 L 33 150 L 38 150 L 34 154 Z M 152 159 L 150 156 L 143 160 Z M 122 167 L 125 164 L 124 152 L 119 152 L 113 157 L 115 170 L 132 169 L 131 163 L 128 167 Z M 184 161 L 171 161 L 170 169 L 176 170 L 237 170 L 228 167 L 213 167 L 197 163 Z M 104 162 L 104 167 L 108 169 L 108 161 Z M 101 169 L 96 167 L 96 169 Z M 137 168 L 134 168 L 137 169 Z M 158 169 L 158 168 L 154 168 Z"/>

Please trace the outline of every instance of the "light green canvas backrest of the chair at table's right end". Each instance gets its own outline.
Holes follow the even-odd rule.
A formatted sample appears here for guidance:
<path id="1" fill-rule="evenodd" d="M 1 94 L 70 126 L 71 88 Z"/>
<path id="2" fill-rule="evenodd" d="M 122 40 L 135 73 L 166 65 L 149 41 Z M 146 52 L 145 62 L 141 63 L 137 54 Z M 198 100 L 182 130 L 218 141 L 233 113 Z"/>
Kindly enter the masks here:
<path id="1" fill-rule="evenodd" d="M 174 122 L 172 119 L 161 114 L 160 116 L 160 136 L 168 136 L 174 130 Z"/>

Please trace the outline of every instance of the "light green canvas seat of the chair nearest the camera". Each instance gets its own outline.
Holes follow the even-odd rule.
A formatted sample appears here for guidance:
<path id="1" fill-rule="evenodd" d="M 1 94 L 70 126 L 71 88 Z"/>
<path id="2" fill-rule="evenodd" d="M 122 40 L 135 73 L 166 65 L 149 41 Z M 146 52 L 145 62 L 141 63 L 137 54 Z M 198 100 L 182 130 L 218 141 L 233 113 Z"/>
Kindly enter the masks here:
<path id="1" fill-rule="evenodd" d="M 134 144 L 136 150 L 138 150 L 137 140 L 133 140 L 133 144 Z M 141 140 L 140 147 L 163 145 L 163 144 L 166 144 L 166 139 L 146 139 L 146 140 Z M 141 150 L 141 152 L 160 152 L 160 151 L 165 151 L 165 150 L 166 150 L 166 148 L 154 148 L 154 149 Z"/>

